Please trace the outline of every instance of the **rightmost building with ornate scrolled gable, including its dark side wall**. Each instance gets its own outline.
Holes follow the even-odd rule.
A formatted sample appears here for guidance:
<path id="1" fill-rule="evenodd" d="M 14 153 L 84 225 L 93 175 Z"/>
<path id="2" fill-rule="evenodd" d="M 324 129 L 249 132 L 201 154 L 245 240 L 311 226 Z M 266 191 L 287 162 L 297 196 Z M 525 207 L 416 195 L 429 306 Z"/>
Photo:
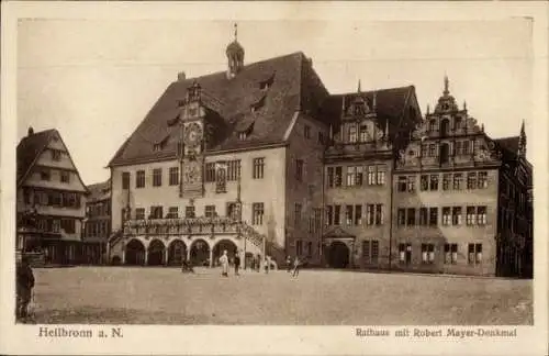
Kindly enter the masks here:
<path id="1" fill-rule="evenodd" d="M 400 151 L 393 178 L 394 266 L 531 275 L 526 135 L 493 140 L 445 89 Z M 526 257 L 526 255 L 528 255 Z"/>

